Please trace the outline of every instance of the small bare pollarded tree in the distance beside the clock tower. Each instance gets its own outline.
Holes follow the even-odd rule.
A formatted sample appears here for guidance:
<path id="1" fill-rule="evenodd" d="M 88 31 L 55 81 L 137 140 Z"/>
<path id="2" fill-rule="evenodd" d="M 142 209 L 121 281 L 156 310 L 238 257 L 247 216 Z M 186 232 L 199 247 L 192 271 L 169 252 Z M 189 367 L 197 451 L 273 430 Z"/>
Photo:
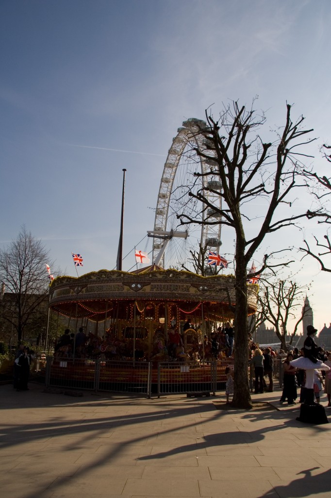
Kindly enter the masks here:
<path id="1" fill-rule="evenodd" d="M 288 321 L 297 316 L 296 311 L 302 306 L 308 286 L 299 285 L 294 280 L 264 281 L 264 289 L 260 289 L 258 300 L 263 309 L 263 316 L 275 329 L 281 348 L 287 351 L 286 336 L 288 335 Z M 294 324 L 290 334 L 289 344 L 292 344 L 298 326 L 310 310 L 304 308 Z"/>

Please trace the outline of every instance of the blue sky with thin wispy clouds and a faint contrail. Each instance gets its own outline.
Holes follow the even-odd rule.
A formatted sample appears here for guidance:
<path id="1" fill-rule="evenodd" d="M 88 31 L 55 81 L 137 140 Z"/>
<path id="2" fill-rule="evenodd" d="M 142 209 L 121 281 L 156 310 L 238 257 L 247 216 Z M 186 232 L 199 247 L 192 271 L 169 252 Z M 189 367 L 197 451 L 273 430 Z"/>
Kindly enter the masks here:
<path id="1" fill-rule="evenodd" d="M 258 95 L 274 127 L 293 103 L 326 169 L 330 21 L 328 0 L 2 0 L 1 247 L 25 224 L 63 272 L 76 274 L 72 251 L 86 272 L 113 268 L 122 168 L 126 254 L 153 229 L 177 127 L 211 104 L 217 114 Z M 223 248 L 231 253 L 233 235 Z M 315 325 L 329 324 L 329 276 L 306 260 L 300 278 L 314 280 Z"/>

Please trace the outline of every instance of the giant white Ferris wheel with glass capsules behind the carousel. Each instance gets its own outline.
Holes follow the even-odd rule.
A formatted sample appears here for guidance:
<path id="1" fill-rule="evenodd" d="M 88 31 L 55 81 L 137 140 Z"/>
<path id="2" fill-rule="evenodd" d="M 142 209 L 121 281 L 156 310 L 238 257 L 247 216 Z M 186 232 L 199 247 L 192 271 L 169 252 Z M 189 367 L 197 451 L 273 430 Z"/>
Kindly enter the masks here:
<path id="1" fill-rule="evenodd" d="M 184 121 L 177 129 L 168 150 L 163 175 L 161 178 L 158 202 L 155 214 L 154 231 L 148 232 L 153 237 L 153 263 L 164 268 L 193 270 L 190 251 L 199 253 L 200 247 L 210 249 L 217 254 L 221 242 L 221 182 L 217 174 L 217 163 L 200 157 L 199 151 L 206 149 L 207 141 L 201 133 L 207 124 L 195 118 Z M 208 149 L 208 155 L 211 155 Z M 215 170 L 215 173 L 214 173 Z M 202 173 L 195 177 L 194 172 Z M 208 174 L 207 174 L 208 173 Z M 191 197 L 190 192 L 203 189 L 208 203 L 216 210 Z M 177 214 L 187 215 L 196 223 L 182 225 Z M 204 223 L 206 220 L 213 225 Z M 183 218 L 184 220 L 184 218 Z M 207 255 L 208 257 L 208 255 Z"/>

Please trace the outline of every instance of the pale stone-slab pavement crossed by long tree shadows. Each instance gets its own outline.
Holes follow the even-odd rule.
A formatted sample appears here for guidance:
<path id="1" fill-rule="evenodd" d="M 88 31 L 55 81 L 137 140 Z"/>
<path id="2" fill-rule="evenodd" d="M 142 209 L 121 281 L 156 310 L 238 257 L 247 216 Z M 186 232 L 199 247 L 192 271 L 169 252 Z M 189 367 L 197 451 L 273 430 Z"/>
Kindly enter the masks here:
<path id="1" fill-rule="evenodd" d="M 224 409 L 224 393 L 29 387 L 0 386 L 1 498 L 331 497 L 331 423 L 297 421 L 279 389 L 245 411 Z"/>

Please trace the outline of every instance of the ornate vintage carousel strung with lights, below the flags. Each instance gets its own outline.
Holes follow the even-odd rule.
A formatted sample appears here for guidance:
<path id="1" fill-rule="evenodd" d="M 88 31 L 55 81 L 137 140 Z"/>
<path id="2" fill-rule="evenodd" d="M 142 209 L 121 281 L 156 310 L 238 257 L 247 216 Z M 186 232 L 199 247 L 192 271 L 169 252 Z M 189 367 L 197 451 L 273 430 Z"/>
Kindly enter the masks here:
<path id="1" fill-rule="evenodd" d="M 234 283 L 233 275 L 203 277 L 157 265 L 100 270 L 53 280 L 50 308 L 89 331 L 78 358 L 168 361 L 174 330 L 181 337 L 174 359 L 201 361 L 209 354 L 204 336 L 233 319 Z M 249 314 L 256 311 L 256 298 L 257 286 L 248 284 Z"/>

